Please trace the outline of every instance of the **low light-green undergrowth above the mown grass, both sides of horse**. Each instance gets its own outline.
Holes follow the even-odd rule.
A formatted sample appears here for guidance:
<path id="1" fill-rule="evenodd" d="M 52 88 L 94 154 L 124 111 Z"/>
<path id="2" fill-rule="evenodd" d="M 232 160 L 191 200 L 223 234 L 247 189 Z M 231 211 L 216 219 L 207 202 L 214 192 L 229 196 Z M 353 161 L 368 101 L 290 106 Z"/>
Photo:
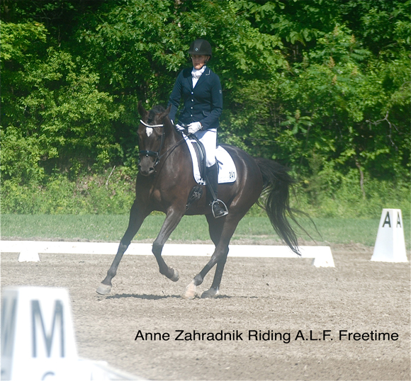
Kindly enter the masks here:
<path id="1" fill-rule="evenodd" d="M 317 165 L 319 168 L 320 165 Z M 376 218 L 383 207 L 402 210 L 411 215 L 410 189 L 407 183 L 367 181 L 366 197 L 357 186 L 358 174 L 351 171 L 341 176 L 332 171 L 318 171 L 306 178 L 291 195 L 291 206 L 312 217 Z M 135 172 L 116 167 L 101 175 L 79 176 L 69 181 L 67 176 L 53 176 L 45 185 L 3 181 L 0 206 L 4 214 L 128 215 L 134 200 Z M 254 205 L 249 216 L 264 217 L 266 213 Z"/>

